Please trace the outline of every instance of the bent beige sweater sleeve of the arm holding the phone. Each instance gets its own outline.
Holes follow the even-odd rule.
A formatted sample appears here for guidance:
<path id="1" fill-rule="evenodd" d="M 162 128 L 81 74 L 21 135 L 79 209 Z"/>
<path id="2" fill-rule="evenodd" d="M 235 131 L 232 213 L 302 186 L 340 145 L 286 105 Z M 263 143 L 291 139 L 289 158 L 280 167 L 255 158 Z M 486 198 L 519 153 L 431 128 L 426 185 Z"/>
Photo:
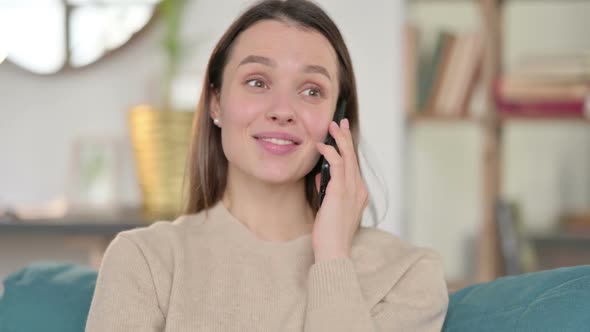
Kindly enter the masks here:
<path id="1" fill-rule="evenodd" d="M 308 292 L 305 332 L 440 331 L 448 305 L 435 255 L 418 259 L 372 308 L 363 299 L 349 258 L 313 265 Z"/>

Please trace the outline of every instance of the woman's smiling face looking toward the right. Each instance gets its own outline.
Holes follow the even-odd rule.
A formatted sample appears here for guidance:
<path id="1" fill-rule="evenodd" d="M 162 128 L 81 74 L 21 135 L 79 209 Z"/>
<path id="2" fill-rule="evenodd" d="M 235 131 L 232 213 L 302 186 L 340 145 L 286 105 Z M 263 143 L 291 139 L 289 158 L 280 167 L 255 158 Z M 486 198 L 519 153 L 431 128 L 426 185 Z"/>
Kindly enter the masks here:
<path id="1" fill-rule="evenodd" d="M 338 98 L 338 62 L 313 30 L 264 20 L 234 41 L 211 116 L 230 171 L 269 183 L 302 180 L 319 159 Z"/>

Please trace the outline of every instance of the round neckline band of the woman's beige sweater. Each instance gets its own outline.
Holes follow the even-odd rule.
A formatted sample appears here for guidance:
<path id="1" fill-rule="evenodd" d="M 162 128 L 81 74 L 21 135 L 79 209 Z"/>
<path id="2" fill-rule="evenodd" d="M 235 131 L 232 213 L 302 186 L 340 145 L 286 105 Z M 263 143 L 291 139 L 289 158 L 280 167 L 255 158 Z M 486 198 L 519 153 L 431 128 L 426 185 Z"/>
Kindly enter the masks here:
<path id="1" fill-rule="evenodd" d="M 299 247 L 309 247 L 312 249 L 311 246 L 311 233 L 307 233 L 304 235 L 300 235 L 296 238 L 287 241 L 269 241 L 263 240 L 258 238 L 246 225 L 244 225 L 241 221 L 239 221 L 231 212 L 227 209 L 225 204 L 223 204 L 222 200 L 219 200 L 215 205 L 212 207 L 209 213 L 213 214 L 213 220 L 215 222 L 216 219 L 223 221 L 228 224 L 228 227 L 232 229 L 232 232 L 239 236 L 239 238 L 243 239 L 244 241 L 248 242 L 251 246 L 254 247 L 261 247 L 261 248 L 273 248 L 273 249 L 281 249 L 281 248 L 299 248 Z"/>

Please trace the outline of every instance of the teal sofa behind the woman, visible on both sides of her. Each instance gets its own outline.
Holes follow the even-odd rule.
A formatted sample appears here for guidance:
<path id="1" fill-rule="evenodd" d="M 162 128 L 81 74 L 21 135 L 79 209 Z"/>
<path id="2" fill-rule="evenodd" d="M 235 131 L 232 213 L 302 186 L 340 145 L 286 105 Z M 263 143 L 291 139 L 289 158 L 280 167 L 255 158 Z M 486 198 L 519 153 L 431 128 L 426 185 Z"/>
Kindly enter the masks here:
<path id="1" fill-rule="evenodd" d="M 84 331 L 95 284 L 91 268 L 33 263 L 4 280 L 0 331 Z M 590 331 L 589 304 L 590 265 L 504 277 L 451 294 L 443 331 Z"/>

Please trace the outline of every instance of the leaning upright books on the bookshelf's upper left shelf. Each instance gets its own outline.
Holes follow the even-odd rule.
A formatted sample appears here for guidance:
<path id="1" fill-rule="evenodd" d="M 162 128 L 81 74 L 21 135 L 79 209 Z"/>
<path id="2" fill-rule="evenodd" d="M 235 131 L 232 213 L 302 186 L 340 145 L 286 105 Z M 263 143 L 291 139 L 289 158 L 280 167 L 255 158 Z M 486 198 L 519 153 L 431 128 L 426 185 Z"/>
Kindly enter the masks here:
<path id="1" fill-rule="evenodd" d="M 420 56 L 417 109 L 440 116 L 465 116 L 484 56 L 480 32 L 440 31 L 432 56 Z"/>

